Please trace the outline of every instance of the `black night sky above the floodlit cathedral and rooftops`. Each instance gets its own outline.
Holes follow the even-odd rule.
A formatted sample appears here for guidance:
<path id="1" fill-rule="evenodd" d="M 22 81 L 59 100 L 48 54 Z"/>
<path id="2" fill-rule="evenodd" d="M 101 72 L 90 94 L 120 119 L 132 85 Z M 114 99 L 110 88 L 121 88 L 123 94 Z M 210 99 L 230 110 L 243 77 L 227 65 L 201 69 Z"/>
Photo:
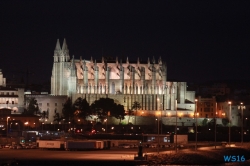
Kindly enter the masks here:
<path id="1" fill-rule="evenodd" d="M 249 80 L 248 1 L 0 1 L 0 69 L 50 81 L 56 40 L 70 55 L 161 56 L 168 80 Z"/>

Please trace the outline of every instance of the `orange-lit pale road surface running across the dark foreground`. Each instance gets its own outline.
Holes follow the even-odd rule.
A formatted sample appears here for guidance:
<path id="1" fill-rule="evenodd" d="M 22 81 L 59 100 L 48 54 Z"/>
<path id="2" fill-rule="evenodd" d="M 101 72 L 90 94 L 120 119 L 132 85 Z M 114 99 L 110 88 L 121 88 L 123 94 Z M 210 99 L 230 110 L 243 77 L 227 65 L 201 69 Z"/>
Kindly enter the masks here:
<path id="1" fill-rule="evenodd" d="M 201 147 L 200 150 L 214 148 Z M 217 148 L 219 148 L 217 146 Z M 179 149 L 193 150 L 193 149 Z M 171 153 L 173 148 L 159 148 L 159 153 Z M 112 148 L 110 150 L 89 150 L 89 151 L 65 151 L 65 150 L 42 150 L 42 149 L 0 149 L 0 160 L 2 159 L 64 159 L 64 160 L 134 160 L 138 148 L 123 149 Z M 157 154 L 157 148 L 143 148 L 144 154 Z"/>

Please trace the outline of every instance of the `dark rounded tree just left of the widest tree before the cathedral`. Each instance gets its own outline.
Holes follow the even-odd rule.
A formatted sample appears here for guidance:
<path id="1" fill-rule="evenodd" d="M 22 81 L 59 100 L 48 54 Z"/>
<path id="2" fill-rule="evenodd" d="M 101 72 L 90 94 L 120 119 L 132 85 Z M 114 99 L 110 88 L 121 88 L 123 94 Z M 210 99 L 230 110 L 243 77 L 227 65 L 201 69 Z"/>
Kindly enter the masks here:
<path id="1" fill-rule="evenodd" d="M 74 115 L 77 118 L 86 119 L 92 115 L 89 103 L 84 98 L 79 97 L 73 104 Z"/>

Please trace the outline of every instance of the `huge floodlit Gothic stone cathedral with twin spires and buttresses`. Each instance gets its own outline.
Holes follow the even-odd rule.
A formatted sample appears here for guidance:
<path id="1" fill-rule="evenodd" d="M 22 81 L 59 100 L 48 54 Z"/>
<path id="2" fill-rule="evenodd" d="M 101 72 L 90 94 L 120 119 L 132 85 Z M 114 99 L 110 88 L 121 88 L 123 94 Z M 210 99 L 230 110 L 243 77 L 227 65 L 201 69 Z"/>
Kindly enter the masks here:
<path id="1" fill-rule="evenodd" d="M 167 81 L 167 65 L 159 58 L 148 58 L 146 62 L 130 62 L 103 57 L 97 61 L 80 56 L 70 56 L 64 39 L 59 39 L 54 50 L 51 76 L 51 95 L 67 95 L 74 102 L 78 97 L 91 104 L 99 98 L 109 97 L 124 106 L 127 111 L 135 101 L 141 109 L 135 116 L 162 116 L 178 114 L 193 116 L 195 92 L 187 91 L 186 82 Z"/>

